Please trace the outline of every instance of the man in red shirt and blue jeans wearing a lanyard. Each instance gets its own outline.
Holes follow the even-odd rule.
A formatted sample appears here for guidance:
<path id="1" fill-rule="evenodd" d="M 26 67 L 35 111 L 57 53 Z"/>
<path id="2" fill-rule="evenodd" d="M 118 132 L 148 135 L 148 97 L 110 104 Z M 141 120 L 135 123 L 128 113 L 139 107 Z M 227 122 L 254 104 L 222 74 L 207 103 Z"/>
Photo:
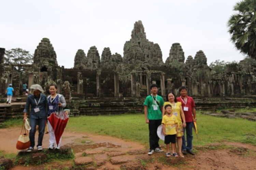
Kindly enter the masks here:
<path id="1" fill-rule="evenodd" d="M 186 155 L 187 153 L 191 155 L 195 155 L 194 152 L 192 152 L 192 126 L 193 121 L 196 122 L 196 105 L 192 97 L 187 96 L 187 88 L 185 86 L 182 86 L 179 88 L 180 97 L 177 98 L 177 101 L 181 102 L 182 109 L 185 115 L 186 120 L 186 128 L 183 129 L 184 136 L 182 136 L 182 153 Z M 193 116 L 194 115 L 194 119 Z M 185 140 L 185 131 L 186 131 L 186 138 L 187 138 L 187 146 L 186 146 L 186 140 Z"/>

